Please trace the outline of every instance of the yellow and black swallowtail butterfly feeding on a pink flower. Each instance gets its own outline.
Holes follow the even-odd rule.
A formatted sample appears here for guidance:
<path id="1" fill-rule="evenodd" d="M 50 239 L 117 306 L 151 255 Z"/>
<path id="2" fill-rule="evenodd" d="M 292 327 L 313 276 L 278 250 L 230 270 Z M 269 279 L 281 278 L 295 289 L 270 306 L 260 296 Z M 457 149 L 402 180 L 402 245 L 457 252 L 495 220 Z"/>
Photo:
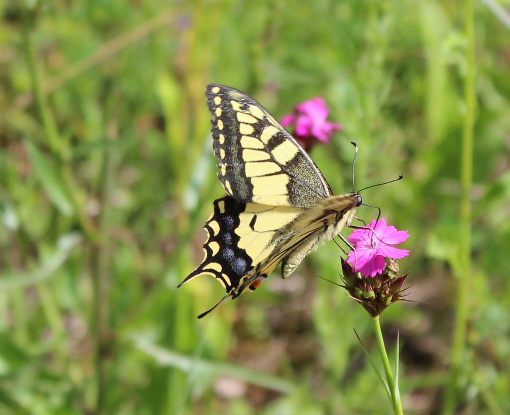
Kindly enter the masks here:
<path id="1" fill-rule="evenodd" d="M 226 194 L 206 222 L 202 263 L 178 287 L 200 275 L 228 297 L 256 289 L 282 263 L 290 276 L 318 243 L 350 225 L 358 192 L 334 195 L 310 156 L 257 101 L 235 88 L 210 84 L 213 148 Z"/>

